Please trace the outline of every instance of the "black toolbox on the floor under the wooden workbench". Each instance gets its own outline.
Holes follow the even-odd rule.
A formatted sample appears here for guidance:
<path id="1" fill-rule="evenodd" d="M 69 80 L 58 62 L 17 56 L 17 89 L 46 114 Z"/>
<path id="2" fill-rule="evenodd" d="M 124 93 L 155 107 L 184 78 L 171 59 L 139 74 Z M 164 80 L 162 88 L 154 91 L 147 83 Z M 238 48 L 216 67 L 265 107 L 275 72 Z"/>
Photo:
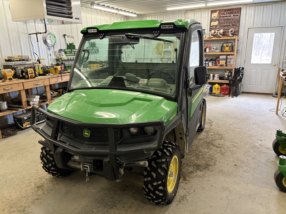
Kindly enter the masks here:
<path id="1" fill-rule="evenodd" d="M 46 116 L 40 112 L 37 112 L 36 115 L 36 124 L 42 123 L 46 121 Z M 14 122 L 16 124 L 17 129 L 26 129 L 31 126 L 31 112 L 25 112 L 17 115 L 13 115 Z"/>

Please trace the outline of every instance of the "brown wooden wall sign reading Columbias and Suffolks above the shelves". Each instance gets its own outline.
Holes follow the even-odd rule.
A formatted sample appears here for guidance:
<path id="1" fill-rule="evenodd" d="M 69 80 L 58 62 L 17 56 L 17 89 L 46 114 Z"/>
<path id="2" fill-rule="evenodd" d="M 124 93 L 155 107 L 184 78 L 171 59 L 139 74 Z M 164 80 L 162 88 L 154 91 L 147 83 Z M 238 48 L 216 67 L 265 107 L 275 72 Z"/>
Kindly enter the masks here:
<path id="1" fill-rule="evenodd" d="M 240 14 L 241 7 L 212 10 L 210 35 L 216 31 L 218 33 L 213 36 L 238 36 Z"/>

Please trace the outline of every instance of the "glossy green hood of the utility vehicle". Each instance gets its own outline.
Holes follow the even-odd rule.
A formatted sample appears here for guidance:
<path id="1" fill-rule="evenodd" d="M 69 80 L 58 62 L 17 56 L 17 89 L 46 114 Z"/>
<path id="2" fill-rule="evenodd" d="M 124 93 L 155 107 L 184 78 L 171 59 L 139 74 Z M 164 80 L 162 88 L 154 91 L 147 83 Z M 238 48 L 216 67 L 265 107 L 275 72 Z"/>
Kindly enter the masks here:
<path id="1" fill-rule="evenodd" d="M 54 101 L 48 111 L 86 123 L 139 123 L 161 120 L 167 125 L 177 114 L 177 103 L 112 89 L 76 90 Z"/>

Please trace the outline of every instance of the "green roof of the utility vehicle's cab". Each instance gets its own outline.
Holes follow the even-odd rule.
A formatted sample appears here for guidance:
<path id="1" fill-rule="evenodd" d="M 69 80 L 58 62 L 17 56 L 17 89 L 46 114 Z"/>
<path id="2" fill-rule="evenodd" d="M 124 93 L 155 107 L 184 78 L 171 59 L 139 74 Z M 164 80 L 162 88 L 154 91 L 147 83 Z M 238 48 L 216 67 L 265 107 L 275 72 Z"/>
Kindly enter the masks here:
<path id="1" fill-rule="evenodd" d="M 113 24 L 104 25 L 94 25 L 83 28 L 80 33 L 85 34 L 88 28 L 97 28 L 99 31 L 104 30 L 123 30 L 123 29 L 143 29 L 143 28 L 158 28 L 160 24 L 170 24 L 173 23 L 176 27 L 184 27 L 189 29 L 190 25 L 194 23 L 200 23 L 197 20 L 173 20 L 173 21 L 159 21 L 159 20 L 141 20 L 141 21 L 124 21 L 124 22 L 114 22 Z"/>

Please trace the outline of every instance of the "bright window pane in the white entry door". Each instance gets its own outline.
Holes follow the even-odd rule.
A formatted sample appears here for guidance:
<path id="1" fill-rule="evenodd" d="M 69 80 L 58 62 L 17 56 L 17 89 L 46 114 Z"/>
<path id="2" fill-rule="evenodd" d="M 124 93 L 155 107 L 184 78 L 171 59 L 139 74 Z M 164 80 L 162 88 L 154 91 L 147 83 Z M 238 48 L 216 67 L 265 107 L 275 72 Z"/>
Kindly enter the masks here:
<path id="1" fill-rule="evenodd" d="M 251 53 L 251 64 L 271 64 L 275 33 L 255 33 Z"/>

